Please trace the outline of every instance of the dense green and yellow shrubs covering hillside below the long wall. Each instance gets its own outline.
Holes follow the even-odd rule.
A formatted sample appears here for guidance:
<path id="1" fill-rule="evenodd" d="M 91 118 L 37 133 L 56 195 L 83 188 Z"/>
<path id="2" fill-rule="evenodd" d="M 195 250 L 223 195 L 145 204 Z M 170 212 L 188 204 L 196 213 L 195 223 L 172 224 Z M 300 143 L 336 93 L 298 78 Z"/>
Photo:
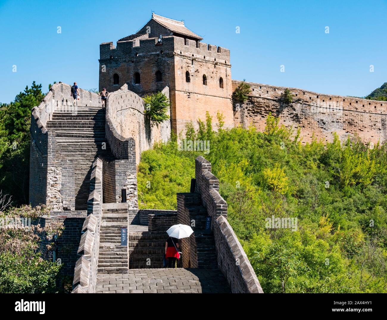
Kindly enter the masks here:
<path id="1" fill-rule="evenodd" d="M 278 123 L 269 116 L 264 133 L 215 133 L 208 114 L 199 131 L 188 124 L 187 139 L 209 140 L 210 152 L 178 151 L 173 136 L 142 153 L 140 208 L 176 209 L 203 155 L 265 292 L 387 292 L 387 146 L 336 135 L 302 145 Z M 272 215 L 297 218 L 296 231 L 266 228 Z"/>

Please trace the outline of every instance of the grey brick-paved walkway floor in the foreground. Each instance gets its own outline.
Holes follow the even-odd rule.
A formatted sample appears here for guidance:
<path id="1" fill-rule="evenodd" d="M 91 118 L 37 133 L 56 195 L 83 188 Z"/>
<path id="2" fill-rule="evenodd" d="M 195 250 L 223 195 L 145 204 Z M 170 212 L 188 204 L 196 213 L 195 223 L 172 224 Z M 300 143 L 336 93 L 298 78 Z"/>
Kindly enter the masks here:
<path id="1" fill-rule="evenodd" d="M 97 293 L 229 293 L 216 269 L 129 269 L 128 274 L 98 274 Z"/>

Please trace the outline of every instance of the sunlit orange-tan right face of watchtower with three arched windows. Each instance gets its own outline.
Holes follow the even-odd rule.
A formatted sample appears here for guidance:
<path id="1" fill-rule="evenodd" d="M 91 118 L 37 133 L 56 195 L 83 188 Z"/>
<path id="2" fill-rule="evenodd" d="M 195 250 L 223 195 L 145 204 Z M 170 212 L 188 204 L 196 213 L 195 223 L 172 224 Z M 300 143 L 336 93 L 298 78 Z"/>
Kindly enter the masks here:
<path id="1" fill-rule="evenodd" d="M 233 127 L 230 51 L 226 48 L 175 37 L 175 85 L 171 89 L 172 129 L 185 132 L 185 124 L 192 121 L 198 129 L 198 119 L 205 121 L 205 113 L 212 116 L 217 129 L 216 114 L 223 114 L 224 126 Z M 188 71 L 190 81 L 186 81 Z M 203 84 L 203 75 L 207 84 Z M 221 87 L 220 80 L 223 82 Z"/>

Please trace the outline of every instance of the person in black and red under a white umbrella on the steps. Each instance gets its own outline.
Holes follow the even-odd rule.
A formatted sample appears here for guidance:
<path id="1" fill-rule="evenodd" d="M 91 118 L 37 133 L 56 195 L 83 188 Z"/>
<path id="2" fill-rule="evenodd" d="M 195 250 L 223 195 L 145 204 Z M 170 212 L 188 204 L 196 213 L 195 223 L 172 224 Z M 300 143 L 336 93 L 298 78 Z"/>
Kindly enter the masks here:
<path id="1" fill-rule="evenodd" d="M 173 225 L 167 230 L 169 238 L 165 242 L 165 258 L 168 259 L 168 268 L 176 268 L 176 260 L 180 259 L 179 239 L 189 237 L 194 230 L 187 225 Z"/>

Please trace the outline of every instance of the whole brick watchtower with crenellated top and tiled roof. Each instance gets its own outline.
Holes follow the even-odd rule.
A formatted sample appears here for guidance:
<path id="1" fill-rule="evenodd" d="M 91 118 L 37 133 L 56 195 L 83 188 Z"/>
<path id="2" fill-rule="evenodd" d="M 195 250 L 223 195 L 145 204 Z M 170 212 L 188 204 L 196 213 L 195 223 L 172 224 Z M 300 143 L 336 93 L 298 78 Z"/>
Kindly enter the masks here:
<path id="1" fill-rule="evenodd" d="M 171 128 L 184 131 L 192 121 L 212 116 L 217 128 L 217 111 L 224 126 L 233 127 L 230 51 L 200 42 L 203 38 L 185 27 L 183 21 L 152 14 L 139 31 L 99 46 L 99 90 L 109 92 L 127 83 L 128 89 L 144 97 L 170 88 Z"/>

